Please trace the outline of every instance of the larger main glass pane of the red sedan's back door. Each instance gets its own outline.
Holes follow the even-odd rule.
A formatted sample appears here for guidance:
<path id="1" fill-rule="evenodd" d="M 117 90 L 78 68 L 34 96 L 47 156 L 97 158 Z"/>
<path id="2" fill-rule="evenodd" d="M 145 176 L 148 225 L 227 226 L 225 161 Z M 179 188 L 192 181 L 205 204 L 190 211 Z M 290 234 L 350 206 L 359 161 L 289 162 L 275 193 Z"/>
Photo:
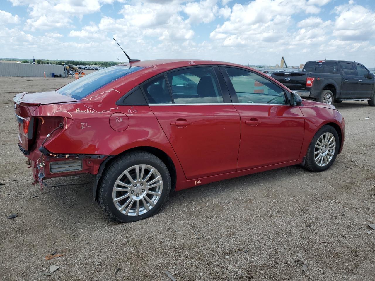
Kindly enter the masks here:
<path id="1" fill-rule="evenodd" d="M 167 74 L 174 103 L 223 103 L 212 67 L 191 67 Z"/>

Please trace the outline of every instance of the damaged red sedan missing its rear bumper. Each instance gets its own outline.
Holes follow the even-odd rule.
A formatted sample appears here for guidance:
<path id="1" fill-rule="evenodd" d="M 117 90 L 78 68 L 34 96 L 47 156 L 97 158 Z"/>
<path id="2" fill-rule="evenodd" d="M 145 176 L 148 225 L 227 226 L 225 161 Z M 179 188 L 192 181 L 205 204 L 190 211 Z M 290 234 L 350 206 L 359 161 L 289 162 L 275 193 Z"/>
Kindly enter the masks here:
<path id="1" fill-rule="evenodd" d="M 132 61 L 15 100 L 19 147 L 34 183 L 94 175 L 93 199 L 120 222 L 156 214 L 171 191 L 341 152 L 345 122 L 250 67 Z"/>

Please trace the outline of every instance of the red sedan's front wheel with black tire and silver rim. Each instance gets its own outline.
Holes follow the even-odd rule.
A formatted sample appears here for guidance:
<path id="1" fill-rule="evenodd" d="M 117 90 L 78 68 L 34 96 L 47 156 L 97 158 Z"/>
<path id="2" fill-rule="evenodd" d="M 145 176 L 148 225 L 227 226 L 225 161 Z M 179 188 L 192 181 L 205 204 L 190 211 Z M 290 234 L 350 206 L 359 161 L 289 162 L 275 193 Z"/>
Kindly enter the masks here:
<path id="1" fill-rule="evenodd" d="M 329 169 L 335 162 L 339 149 L 340 139 L 336 130 L 329 125 L 321 127 L 306 152 L 305 168 L 312 172 Z"/>

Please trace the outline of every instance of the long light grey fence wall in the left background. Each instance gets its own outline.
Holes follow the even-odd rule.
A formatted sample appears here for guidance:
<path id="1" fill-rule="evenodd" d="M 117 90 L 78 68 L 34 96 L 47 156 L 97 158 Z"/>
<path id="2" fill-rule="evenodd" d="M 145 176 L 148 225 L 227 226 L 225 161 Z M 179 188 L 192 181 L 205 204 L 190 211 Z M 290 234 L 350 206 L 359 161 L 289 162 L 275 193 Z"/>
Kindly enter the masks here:
<path id="1" fill-rule="evenodd" d="M 64 67 L 51 64 L 0 63 L 0 76 L 51 77 L 51 73 L 65 77 Z"/>

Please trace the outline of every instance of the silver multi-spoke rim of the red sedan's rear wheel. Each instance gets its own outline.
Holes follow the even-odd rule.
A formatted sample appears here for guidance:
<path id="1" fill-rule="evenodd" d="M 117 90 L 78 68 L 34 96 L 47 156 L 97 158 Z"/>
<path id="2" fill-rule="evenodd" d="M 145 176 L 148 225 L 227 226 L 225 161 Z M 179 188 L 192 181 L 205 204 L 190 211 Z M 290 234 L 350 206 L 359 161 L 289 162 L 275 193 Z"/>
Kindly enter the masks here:
<path id="1" fill-rule="evenodd" d="M 157 169 L 147 164 L 134 165 L 117 178 L 113 203 L 124 215 L 142 215 L 156 205 L 162 190 L 163 179 Z"/>

